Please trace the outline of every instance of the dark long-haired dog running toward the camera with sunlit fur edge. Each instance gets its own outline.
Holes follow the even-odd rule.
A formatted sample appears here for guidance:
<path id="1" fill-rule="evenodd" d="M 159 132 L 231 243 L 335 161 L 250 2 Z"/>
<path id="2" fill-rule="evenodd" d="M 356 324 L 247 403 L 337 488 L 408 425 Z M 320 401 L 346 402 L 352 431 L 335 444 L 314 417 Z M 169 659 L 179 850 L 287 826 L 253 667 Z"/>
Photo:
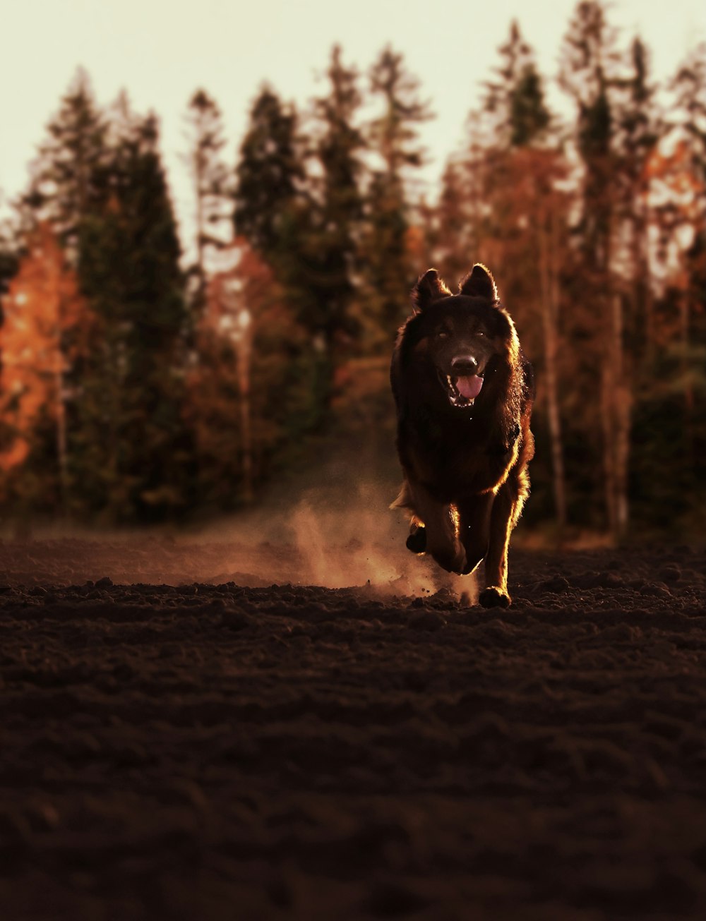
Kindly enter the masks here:
<path id="1" fill-rule="evenodd" d="M 407 511 L 413 553 L 461 575 L 485 560 L 478 600 L 507 608 L 508 546 L 535 452 L 534 371 L 482 263 L 455 295 L 429 269 L 412 303 L 390 375 L 405 473 L 391 508 Z"/>

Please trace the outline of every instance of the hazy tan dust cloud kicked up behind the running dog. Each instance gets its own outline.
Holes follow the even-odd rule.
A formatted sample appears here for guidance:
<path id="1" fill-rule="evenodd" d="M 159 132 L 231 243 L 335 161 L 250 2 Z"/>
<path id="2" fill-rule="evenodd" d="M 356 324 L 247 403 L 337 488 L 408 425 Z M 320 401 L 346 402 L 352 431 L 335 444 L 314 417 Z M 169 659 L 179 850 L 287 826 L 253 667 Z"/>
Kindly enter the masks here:
<path id="1" fill-rule="evenodd" d="M 320 484 L 271 495 L 262 506 L 200 527 L 96 531 L 65 525 L 18 532 L 2 547 L 0 569 L 15 583 L 119 585 L 191 583 L 360 589 L 368 597 L 437 592 L 477 598 L 475 577 L 445 573 L 410 554 L 404 514 L 391 511 L 392 484 L 356 481 L 342 471 Z"/>

